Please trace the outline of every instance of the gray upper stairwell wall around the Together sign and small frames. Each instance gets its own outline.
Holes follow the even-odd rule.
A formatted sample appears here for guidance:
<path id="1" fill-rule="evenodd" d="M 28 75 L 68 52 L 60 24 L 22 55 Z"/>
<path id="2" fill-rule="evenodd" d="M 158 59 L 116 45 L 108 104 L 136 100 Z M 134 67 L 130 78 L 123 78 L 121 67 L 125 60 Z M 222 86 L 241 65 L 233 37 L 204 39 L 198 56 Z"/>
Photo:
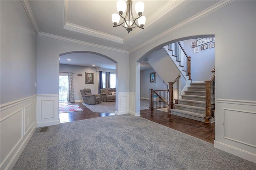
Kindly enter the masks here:
<path id="1" fill-rule="evenodd" d="M 196 40 L 200 40 L 200 38 Z M 211 71 L 215 66 L 215 47 L 210 48 L 210 43 L 214 41 L 206 43 L 208 45 L 208 48 L 204 50 L 201 50 L 202 45 L 199 45 L 199 52 L 194 53 L 194 48 L 192 48 L 191 42 L 196 40 L 192 39 L 183 41 L 183 48 L 188 54 L 188 56 L 191 57 L 192 81 L 210 80 L 214 74 Z"/>

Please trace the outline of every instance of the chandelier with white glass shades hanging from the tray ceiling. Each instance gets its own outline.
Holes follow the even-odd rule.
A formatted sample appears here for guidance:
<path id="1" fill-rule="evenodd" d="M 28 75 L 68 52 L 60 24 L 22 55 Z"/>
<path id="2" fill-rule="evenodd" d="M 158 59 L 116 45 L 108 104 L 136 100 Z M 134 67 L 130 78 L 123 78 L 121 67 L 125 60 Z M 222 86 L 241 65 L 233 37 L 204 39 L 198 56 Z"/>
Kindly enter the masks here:
<path id="1" fill-rule="evenodd" d="M 144 3 L 143 2 L 137 2 L 135 4 L 135 11 L 138 14 L 137 18 L 134 18 L 132 14 L 132 0 L 128 0 L 124 2 L 123 0 L 119 0 L 116 3 L 116 8 L 118 14 L 112 14 L 112 22 L 114 24 L 113 27 L 122 26 L 126 28 L 128 33 L 132 31 L 133 28 L 143 28 L 146 22 L 146 17 L 142 16 L 142 13 L 144 12 Z M 125 17 L 122 16 L 126 10 Z M 120 24 L 120 17 L 124 19 Z M 136 23 L 136 20 L 138 20 L 138 24 Z"/>

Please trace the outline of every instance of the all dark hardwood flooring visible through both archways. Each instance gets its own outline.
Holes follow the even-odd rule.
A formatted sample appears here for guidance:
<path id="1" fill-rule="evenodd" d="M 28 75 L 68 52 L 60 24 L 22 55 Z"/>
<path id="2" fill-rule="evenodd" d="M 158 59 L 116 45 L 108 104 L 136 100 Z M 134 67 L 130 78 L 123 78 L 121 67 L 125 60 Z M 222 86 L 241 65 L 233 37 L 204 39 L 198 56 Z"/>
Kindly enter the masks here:
<path id="1" fill-rule="evenodd" d="M 72 105 L 73 104 L 78 104 L 83 111 L 60 113 L 60 123 L 115 115 L 114 113 L 94 113 L 82 103 L 72 103 Z M 140 117 L 189 134 L 196 138 L 200 138 L 210 143 L 213 143 L 215 139 L 215 123 L 212 123 L 211 127 L 209 127 L 207 123 L 194 121 L 176 115 L 170 115 L 164 111 L 158 111 L 155 109 L 141 110 Z"/>

